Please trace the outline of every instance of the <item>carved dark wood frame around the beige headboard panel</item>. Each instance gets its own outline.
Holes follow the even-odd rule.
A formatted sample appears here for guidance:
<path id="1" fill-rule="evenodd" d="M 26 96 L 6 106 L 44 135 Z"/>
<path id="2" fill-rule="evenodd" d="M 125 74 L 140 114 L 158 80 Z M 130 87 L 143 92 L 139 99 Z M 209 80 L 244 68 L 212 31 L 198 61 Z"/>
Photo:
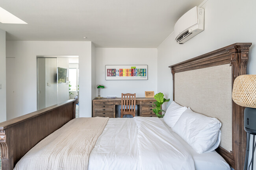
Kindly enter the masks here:
<path id="1" fill-rule="evenodd" d="M 251 45 L 252 43 L 235 43 L 169 66 L 173 74 L 173 100 L 175 98 L 175 73 L 178 72 L 229 64 L 231 66 L 232 74 L 230 81 L 233 87 L 235 78 L 239 75 L 246 74 L 248 52 Z M 232 88 L 230 89 L 232 90 Z M 230 91 L 230 93 L 232 93 L 232 91 Z M 221 146 L 217 148 L 217 152 L 235 170 L 243 169 L 245 158 L 246 133 L 243 129 L 243 111 L 244 107 L 241 107 L 232 101 L 232 120 L 230 120 L 232 121 L 232 152 L 225 150 Z"/>

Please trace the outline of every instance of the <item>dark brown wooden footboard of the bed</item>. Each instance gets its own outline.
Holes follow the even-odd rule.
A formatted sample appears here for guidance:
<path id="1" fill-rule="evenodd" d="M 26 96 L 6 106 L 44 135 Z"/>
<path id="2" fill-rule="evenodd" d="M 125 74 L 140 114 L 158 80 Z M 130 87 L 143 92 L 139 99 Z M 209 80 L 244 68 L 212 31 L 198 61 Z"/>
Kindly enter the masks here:
<path id="1" fill-rule="evenodd" d="M 13 170 L 33 146 L 74 118 L 76 100 L 68 100 L 0 123 L 2 170 Z"/>

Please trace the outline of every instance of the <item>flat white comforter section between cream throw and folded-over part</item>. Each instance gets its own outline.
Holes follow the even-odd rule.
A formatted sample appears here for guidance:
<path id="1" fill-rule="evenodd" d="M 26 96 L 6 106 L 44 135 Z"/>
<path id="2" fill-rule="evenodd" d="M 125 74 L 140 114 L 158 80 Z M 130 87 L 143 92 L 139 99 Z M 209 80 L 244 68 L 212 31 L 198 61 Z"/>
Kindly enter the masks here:
<path id="1" fill-rule="evenodd" d="M 137 130 L 132 118 L 110 118 L 90 154 L 88 170 L 135 170 Z"/>

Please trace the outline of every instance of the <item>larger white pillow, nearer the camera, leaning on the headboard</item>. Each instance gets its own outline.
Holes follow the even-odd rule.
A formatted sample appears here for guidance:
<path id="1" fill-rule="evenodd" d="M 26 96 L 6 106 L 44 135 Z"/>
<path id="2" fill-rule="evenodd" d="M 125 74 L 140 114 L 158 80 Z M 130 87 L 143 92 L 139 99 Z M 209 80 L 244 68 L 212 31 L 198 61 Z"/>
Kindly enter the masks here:
<path id="1" fill-rule="evenodd" d="M 221 141 L 221 122 L 187 109 L 173 127 L 197 153 L 215 150 Z"/>

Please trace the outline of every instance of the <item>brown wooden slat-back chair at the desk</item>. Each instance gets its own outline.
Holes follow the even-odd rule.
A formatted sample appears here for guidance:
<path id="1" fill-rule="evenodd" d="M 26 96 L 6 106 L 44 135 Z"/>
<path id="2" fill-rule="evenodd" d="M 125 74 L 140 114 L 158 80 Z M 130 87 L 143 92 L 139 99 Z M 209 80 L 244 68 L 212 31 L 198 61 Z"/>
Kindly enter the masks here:
<path id="1" fill-rule="evenodd" d="M 134 94 L 122 93 L 121 118 L 124 115 L 132 115 L 133 117 L 135 116 L 135 103 L 136 103 L 136 93 Z"/>

